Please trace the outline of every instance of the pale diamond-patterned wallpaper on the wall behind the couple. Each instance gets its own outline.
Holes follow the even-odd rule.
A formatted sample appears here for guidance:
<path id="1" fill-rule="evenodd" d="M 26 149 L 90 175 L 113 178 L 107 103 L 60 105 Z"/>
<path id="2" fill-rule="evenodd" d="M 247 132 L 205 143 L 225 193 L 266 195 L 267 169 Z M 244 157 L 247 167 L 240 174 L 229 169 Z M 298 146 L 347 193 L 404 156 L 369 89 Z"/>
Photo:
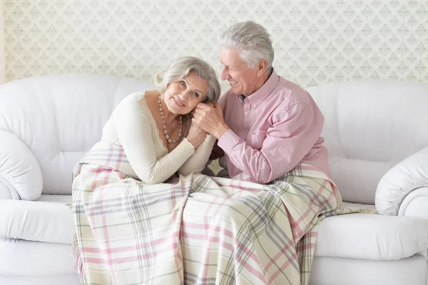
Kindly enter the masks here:
<path id="1" fill-rule="evenodd" d="M 278 74 L 428 81 L 427 0 L 4 0 L 6 80 L 82 72 L 152 80 L 178 56 L 220 73 L 217 35 L 252 19 Z M 223 84 L 225 86 L 225 84 Z"/>

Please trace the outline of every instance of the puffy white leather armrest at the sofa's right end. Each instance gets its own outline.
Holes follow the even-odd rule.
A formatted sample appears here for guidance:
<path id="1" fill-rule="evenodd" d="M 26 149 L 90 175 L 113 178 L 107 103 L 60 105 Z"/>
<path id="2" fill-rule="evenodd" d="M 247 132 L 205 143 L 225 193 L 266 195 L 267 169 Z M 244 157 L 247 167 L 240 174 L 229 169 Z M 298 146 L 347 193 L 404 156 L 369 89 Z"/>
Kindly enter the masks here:
<path id="1" fill-rule="evenodd" d="M 404 213 L 407 206 L 403 204 L 407 199 L 419 199 L 417 196 L 424 196 L 423 188 L 428 186 L 428 146 L 400 161 L 397 165 L 389 169 L 377 184 L 375 204 L 379 214 L 397 216 Z M 420 189 L 420 190 L 419 190 Z M 414 192 L 415 191 L 415 192 Z M 413 193 L 414 192 L 414 193 Z M 402 207 L 403 205 L 403 207 Z M 400 208 L 402 207 L 402 210 Z"/>

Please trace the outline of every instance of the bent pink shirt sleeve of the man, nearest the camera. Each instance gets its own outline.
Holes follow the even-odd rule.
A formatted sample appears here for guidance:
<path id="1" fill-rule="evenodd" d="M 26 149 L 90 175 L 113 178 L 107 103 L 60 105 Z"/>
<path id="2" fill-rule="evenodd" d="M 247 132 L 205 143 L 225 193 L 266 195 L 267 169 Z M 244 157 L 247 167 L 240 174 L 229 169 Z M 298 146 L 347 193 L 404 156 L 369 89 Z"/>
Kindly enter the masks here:
<path id="1" fill-rule="evenodd" d="M 230 129 L 218 141 L 238 169 L 262 184 L 286 174 L 302 161 L 320 137 L 324 119 L 307 104 L 297 103 L 275 111 L 272 123 L 265 134 L 258 134 L 260 139 L 265 138 L 260 150 Z"/>

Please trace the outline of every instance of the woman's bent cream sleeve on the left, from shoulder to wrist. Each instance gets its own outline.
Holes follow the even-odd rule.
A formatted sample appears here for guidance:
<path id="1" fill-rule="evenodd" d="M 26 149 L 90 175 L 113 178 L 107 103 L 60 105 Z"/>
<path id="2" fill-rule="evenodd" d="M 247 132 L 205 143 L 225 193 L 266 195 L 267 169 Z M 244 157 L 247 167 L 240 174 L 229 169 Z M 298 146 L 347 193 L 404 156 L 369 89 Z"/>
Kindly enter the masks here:
<path id="1" fill-rule="evenodd" d="M 138 178 L 146 184 L 162 183 L 195 152 L 192 144 L 183 139 L 173 151 L 156 158 L 151 127 L 151 114 L 140 107 L 140 101 L 122 101 L 113 111 L 113 125 L 126 157 Z"/>

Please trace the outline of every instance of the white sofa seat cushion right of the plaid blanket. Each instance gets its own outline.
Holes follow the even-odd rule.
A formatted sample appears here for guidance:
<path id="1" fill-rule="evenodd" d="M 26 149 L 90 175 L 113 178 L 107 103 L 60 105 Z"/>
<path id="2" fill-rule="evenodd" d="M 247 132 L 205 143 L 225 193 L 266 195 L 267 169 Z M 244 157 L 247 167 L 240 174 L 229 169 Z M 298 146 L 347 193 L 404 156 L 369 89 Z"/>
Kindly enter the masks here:
<path id="1" fill-rule="evenodd" d="M 428 249 L 428 220 L 409 216 L 345 214 L 320 224 L 315 256 L 389 261 Z"/>

